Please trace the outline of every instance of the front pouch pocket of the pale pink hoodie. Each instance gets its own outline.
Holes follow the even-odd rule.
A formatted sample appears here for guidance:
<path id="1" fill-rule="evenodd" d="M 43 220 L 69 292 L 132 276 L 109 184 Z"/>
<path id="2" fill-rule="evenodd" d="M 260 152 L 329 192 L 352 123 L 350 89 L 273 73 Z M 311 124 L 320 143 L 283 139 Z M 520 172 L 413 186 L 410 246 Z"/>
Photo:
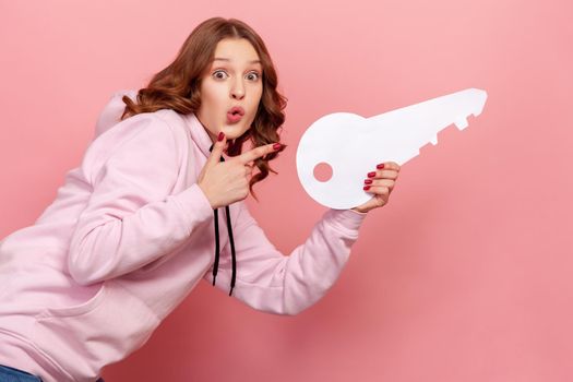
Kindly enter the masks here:
<path id="1" fill-rule="evenodd" d="M 77 381 L 89 381 L 145 344 L 158 324 L 143 301 L 108 280 L 81 305 L 45 309 L 36 317 L 33 341 Z"/>

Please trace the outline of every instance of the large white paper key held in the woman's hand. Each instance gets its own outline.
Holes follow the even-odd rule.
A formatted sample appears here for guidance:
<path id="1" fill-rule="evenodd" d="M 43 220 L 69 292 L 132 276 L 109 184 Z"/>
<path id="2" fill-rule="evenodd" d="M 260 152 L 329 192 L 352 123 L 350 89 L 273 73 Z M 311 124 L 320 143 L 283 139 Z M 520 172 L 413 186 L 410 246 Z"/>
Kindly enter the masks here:
<path id="1" fill-rule="evenodd" d="M 467 127 L 467 117 L 481 114 L 488 95 L 467 88 L 374 117 L 334 112 L 318 119 L 300 139 L 297 171 L 307 193 L 322 205 L 336 210 L 356 207 L 368 202 L 366 175 L 377 164 L 404 165 L 420 154 L 429 142 L 438 143 L 438 132 L 454 123 Z M 314 177 L 314 168 L 326 164 L 332 177 Z M 322 165 L 325 166 L 325 165 Z"/>

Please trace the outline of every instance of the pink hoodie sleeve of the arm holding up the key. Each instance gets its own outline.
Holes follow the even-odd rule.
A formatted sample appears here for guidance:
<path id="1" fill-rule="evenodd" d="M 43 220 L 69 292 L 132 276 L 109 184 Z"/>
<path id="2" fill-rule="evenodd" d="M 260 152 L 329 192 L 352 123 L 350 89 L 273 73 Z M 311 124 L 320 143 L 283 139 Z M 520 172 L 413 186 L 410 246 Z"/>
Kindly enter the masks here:
<path id="1" fill-rule="evenodd" d="M 234 228 L 237 279 L 232 296 L 275 314 L 297 314 L 326 294 L 344 268 L 367 216 L 351 210 L 329 210 L 307 241 L 285 256 L 268 241 L 247 205 L 240 204 Z M 222 258 L 216 283 L 226 293 L 231 278 L 228 258 Z M 212 270 L 204 278 L 213 283 Z"/>

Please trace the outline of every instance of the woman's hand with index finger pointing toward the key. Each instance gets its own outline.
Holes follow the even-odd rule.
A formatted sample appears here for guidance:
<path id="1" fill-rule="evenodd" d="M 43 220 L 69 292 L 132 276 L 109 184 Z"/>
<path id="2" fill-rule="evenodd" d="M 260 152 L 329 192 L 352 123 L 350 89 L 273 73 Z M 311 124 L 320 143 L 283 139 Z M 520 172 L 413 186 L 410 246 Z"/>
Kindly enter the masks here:
<path id="1" fill-rule="evenodd" d="M 199 187 L 213 208 L 246 199 L 249 195 L 252 162 L 282 147 L 280 143 L 271 143 L 220 162 L 226 143 L 227 138 L 220 132 L 198 179 Z"/>

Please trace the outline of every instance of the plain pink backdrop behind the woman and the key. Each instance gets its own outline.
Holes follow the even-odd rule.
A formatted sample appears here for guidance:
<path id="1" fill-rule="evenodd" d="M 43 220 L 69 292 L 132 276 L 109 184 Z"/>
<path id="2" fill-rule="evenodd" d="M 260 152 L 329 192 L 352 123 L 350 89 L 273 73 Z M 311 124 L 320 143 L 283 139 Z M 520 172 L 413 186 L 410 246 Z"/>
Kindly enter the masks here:
<path id="1" fill-rule="evenodd" d="M 533 3 L 537 3 L 533 5 Z M 539 3 L 542 3 L 539 4 Z M 0 237 L 31 225 L 80 164 L 116 89 L 139 88 L 201 21 L 264 38 L 289 98 L 279 176 L 253 215 L 285 253 L 324 207 L 298 140 L 467 87 L 469 128 L 403 167 L 338 283 L 298 317 L 202 283 L 109 381 L 573 380 L 573 5 L 561 1 L 35 1 L 0 3 Z M 273 11 L 274 9 L 274 11 Z"/>

